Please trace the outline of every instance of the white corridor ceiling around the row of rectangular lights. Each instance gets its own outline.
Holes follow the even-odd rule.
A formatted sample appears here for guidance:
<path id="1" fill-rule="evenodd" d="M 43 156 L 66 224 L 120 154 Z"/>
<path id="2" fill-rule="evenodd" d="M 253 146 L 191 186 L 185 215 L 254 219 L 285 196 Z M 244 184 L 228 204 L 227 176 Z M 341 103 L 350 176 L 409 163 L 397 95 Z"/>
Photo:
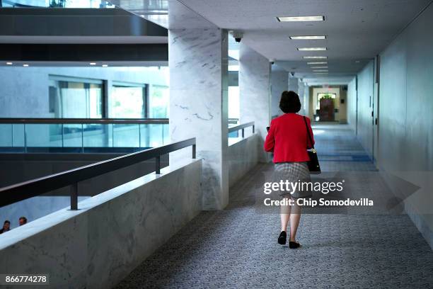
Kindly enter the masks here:
<path id="1" fill-rule="evenodd" d="M 328 56 L 329 80 L 350 79 L 378 55 L 431 0 L 178 0 L 220 28 L 241 30 L 242 42 L 296 76 L 315 79 L 304 55 Z M 170 13 L 170 11 L 169 11 Z M 277 16 L 325 16 L 279 22 Z M 289 35 L 327 35 L 290 40 Z M 299 52 L 296 47 L 328 47 Z M 311 61 L 311 60 L 310 60 Z M 358 62 L 356 62 L 358 61 Z M 325 77 L 318 77 L 323 83 Z M 342 81 L 342 80 L 340 80 Z"/>

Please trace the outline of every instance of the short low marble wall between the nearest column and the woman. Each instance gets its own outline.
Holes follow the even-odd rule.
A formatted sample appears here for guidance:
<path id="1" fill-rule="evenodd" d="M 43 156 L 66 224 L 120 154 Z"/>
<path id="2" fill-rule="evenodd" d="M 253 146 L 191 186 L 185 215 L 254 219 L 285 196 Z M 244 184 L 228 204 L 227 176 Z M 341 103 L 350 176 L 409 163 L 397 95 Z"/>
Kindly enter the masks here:
<path id="1" fill-rule="evenodd" d="M 258 163 L 258 134 L 229 146 L 229 186 L 233 186 Z"/>

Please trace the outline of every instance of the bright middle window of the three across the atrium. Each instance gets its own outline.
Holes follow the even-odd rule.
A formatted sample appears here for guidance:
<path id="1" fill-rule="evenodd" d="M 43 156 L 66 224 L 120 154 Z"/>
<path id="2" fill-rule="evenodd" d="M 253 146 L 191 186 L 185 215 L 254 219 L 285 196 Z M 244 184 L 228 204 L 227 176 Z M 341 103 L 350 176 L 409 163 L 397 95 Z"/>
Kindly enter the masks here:
<path id="1" fill-rule="evenodd" d="M 146 118 L 146 84 L 114 82 L 108 103 L 110 118 Z"/>

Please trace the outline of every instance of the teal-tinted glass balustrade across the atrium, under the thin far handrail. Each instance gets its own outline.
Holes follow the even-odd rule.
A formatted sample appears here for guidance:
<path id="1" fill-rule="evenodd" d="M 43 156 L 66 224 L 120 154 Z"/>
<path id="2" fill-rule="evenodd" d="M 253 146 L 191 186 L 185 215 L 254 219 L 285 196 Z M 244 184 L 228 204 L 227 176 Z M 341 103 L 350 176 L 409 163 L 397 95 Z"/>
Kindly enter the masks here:
<path id="1" fill-rule="evenodd" d="M 135 152 L 170 143 L 164 123 L 0 124 L 0 152 Z"/>

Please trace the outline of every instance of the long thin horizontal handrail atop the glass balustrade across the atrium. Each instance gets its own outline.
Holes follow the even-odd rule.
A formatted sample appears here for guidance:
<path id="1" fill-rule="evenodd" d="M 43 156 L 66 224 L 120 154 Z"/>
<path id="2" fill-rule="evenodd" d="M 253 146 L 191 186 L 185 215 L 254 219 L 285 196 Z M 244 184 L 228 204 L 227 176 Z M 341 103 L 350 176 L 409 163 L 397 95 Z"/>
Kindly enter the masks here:
<path id="1" fill-rule="evenodd" d="M 168 124 L 168 118 L 0 118 L 13 124 Z"/>

